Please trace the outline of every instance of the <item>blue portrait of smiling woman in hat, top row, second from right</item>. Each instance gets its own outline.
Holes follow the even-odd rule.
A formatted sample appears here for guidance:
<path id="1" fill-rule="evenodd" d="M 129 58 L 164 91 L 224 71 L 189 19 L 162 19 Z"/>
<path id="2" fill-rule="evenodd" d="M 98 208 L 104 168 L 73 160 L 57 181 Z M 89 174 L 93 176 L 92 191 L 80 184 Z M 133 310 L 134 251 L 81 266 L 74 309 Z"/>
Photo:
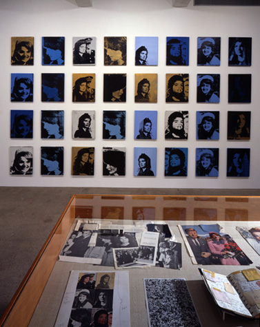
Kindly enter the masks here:
<path id="1" fill-rule="evenodd" d="M 220 37 L 198 37 L 198 66 L 220 65 Z"/>

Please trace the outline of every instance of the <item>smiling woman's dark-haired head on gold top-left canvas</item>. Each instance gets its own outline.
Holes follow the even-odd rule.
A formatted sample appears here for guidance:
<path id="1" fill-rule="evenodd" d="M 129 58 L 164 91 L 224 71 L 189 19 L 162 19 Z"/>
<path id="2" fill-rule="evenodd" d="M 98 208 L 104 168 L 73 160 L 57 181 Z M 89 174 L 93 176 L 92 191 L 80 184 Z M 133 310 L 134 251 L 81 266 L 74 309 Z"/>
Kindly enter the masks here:
<path id="1" fill-rule="evenodd" d="M 26 40 L 17 40 L 11 58 L 11 65 L 33 65 L 33 44 Z"/>

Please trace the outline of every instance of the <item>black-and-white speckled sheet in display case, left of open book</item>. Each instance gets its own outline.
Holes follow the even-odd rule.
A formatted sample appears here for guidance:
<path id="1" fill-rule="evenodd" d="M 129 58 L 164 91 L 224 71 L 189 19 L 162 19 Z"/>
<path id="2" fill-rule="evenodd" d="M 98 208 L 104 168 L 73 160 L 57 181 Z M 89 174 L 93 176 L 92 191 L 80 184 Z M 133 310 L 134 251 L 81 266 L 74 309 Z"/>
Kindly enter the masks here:
<path id="1" fill-rule="evenodd" d="M 143 279 L 149 327 L 201 327 L 183 278 Z"/>

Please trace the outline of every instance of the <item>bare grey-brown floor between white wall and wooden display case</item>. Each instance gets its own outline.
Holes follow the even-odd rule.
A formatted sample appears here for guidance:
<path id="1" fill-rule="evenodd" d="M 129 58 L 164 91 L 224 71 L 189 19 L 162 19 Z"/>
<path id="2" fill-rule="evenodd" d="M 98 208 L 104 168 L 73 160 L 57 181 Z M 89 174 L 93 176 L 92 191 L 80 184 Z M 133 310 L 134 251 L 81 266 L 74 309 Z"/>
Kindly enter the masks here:
<path id="1" fill-rule="evenodd" d="M 0 187 L 0 316 L 73 194 L 259 196 L 260 190 Z"/>

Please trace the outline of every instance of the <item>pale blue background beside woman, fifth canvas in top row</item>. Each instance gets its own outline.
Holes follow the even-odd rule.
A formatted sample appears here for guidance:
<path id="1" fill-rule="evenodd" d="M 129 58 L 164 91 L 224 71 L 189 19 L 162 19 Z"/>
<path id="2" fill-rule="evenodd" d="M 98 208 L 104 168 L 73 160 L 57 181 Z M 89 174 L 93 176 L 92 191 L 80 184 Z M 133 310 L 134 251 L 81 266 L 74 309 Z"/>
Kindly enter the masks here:
<path id="1" fill-rule="evenodd" d="M 135 51 L 141 46 L 145 46 L 148 50 L 147 65 L 158 65 L 158 37 L 157 36 L 136 36 L 135 38 Z"/>

